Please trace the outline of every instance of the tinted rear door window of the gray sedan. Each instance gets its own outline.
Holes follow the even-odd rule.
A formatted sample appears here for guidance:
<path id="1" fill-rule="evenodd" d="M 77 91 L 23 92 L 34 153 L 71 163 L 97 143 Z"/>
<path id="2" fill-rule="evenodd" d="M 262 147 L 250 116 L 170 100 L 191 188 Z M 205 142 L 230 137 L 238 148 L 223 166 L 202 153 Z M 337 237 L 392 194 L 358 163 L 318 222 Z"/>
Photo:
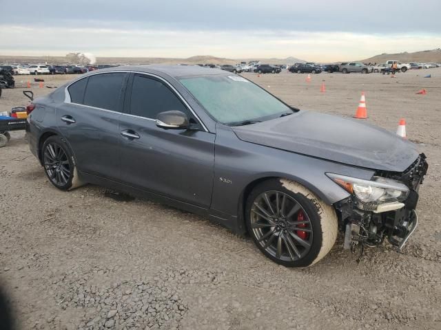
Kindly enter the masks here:
<path id="1" fill-rule="evenodd" d="M 125 73 L 90 76 L 83 104 L 90 107 L 121 112 L 121 91 Z"/>

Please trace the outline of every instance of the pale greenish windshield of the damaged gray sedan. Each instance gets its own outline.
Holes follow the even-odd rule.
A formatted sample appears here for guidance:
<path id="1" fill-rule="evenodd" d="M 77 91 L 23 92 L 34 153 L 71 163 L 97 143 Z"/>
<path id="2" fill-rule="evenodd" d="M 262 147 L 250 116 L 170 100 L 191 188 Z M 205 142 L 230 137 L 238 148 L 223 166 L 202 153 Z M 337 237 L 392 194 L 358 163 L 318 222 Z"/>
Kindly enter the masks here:
<path id="1" fill-rule="evenodd" d="M 293 112 L 240 76 L 194 76 L 180 78 L 180 81 L 205 110 L 223 124 L 252 124 Z"/>

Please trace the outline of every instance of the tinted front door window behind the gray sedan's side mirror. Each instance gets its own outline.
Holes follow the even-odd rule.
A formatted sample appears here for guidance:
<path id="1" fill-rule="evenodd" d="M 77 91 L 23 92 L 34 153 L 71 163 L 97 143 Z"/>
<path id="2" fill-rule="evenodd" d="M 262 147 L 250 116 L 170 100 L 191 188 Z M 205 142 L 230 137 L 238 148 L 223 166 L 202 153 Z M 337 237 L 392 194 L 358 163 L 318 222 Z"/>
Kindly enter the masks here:
<path id="1" fill-rule="evenodd" d="M 191 117 L 187 107 L 161 81 L 147 76 L 134 76 L 130 98 L 132 115 L 155 119 L 158 113 L 170 110 L 182 111 Z"/>

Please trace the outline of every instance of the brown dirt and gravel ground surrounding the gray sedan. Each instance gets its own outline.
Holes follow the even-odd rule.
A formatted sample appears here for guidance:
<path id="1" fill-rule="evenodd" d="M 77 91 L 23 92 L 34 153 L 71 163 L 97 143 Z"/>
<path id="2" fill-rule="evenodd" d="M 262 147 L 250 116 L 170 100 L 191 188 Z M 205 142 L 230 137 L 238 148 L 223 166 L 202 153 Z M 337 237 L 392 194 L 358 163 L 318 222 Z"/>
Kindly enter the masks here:
<path id="1" fill-rule="evenodd" d="M 19 329 L 441 329 L 441 68 L 311 83 L 287 72 L 244 76 L 292 106 L 344 116 L 365 91 L 368 122 L 395 131 L 407 120 L 429 174 L 404 251 L 384 243 L 356 263 L 340 238 L 320 263 L 287 269 L 194 214 L 115 201 L 97 186 L 61 192 L 24 133 L 12 132 L 0 149 L 0 279 Z M 0 111 L 26 104 L 22 90 L 3 90 Z"/>

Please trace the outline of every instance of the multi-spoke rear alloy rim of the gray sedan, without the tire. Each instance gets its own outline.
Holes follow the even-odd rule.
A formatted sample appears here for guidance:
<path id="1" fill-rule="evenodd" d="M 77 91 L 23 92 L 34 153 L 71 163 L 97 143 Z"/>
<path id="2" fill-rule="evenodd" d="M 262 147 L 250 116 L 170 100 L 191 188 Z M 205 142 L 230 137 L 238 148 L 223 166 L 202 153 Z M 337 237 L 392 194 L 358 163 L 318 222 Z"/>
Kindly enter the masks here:
<path id="1" fill-rule="evenodd" d="M 65 186 L 70 179 L 70 164 L 63 148 L 50 142 L 45 146 L 43 162 L 49 179 L 57 186 Z"/>

